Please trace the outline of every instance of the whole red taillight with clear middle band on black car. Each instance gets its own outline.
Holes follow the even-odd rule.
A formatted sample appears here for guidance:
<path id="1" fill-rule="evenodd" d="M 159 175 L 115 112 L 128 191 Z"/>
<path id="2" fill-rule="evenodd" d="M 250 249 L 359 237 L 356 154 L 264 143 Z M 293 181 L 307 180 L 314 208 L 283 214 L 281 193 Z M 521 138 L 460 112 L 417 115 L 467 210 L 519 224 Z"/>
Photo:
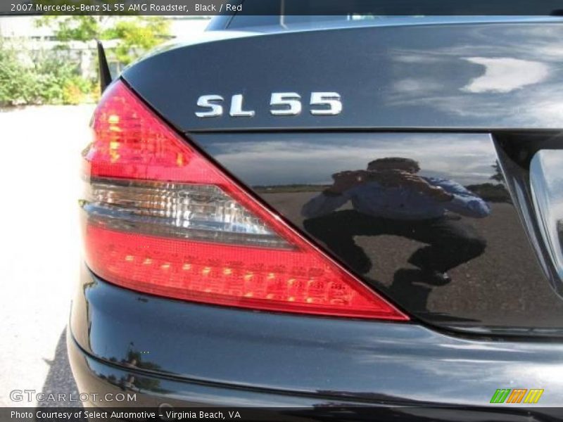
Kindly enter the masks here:
<path id="1" fill-rule="evenodd" d="M 84 151 L 84 241 L 103 279 L 168 298 L 407 320 L 189 146 L 125 84 Z"/>

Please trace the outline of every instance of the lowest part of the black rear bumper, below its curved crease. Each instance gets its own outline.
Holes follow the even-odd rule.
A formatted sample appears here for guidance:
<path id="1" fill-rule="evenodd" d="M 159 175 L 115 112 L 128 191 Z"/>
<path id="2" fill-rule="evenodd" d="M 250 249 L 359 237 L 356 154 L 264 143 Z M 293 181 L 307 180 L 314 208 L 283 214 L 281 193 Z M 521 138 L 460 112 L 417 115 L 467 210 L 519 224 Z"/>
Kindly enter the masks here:
<path id="1" fill-rule="evenodd" d="M 72 371 L 81 391 L 96 393 L 104 397 L 112 393 L 134 395 L 137 409 L 146 411 L 166 410 L 200 411 L 202 407 L 216 407 L 220 404 L 225 415 L 229 410 L 239 411 L 241 421 L 282 420 L 282 421 L 458 421 L 462 417 L 467 422 L 498 421 L 526 422 L 557 421 L 561 410 L 545 407 L 411 407 L 400 406 L 387 401 L 373 401 L 370 397 L 347 397 L 346 395 L 306 394 L 258 389 L 224 383 L 208 383 L 180 379 L 151 371 L 110 364 L 84 353 L 75 340 L 67 336 L 68 352 Z M 371 397 L 372 398 L 372 397 Z M 91 407 L 100 410 L 125 410 L 123 402 L 89 402 Z M 119 407 L 120 409 L 115 409 Z M 230 408 L 230 409 L 229 409 Z M 253 408 L 253 409 L 251 409 Z M 258 409 L 257 409 L 258 408 Z M 209 411 L 212 409 L 204 409 Z"/>

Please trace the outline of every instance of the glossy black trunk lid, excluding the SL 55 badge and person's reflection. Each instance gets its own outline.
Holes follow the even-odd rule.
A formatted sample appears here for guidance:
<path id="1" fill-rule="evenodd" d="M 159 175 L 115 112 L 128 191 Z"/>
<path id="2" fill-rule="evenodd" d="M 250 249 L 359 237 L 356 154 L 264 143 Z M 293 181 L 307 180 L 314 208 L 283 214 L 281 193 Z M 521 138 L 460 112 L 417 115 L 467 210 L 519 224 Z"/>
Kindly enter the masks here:
<path id="1" fill-rule="evenodd" d="M 549 286 L 561 290 L 561 280 L 533 211 L 525 209 L 533 208 L 533 200 L 519 200 L 517 176 L 506 169 L 519 167 L 521 183 L 529 185 L 533 151 L 513 148 L 512 137 L 529 139 L 536 150 L 561 146 L 557 92 L 563 72 L 555 46 L 562 35 L 563 25 L 517 18 L 262 34 L 172 46 L 123 77 L 157 113 L 301 229 L 303 206 L 331 184 L 332 174 L 365 169 L 378 158 L 419 160 L 423 176 L 478 189 L 493 203 L 492 212 L 455 223 L 471 231 L 479 250 L 453 266 L 449 286 L 421 285 L 409 273 L 409 255 L 423 243 L 393 232 L 360 238 L 372 267 L 360 271 L 346 257 L 359 252 L 327 244 L 330 224 L 322 233 L 304 231 L 425 321 L 479 332 L 524 328 L 559 335 L 563 300 Z M 312 91 L 338 92 L 342 113 L 309 113 Z M 272 115 L 272 92 L 300 94 L 303 112 Z M 207 94 L 224 98 L 223 115 L 196 116 L 198 97 Z M 235 94 L 243 96 L 244 110 L 255 111 L 253 117 L 229 116 Z M 368 235 L 355 233 L 362 234 Z"/>

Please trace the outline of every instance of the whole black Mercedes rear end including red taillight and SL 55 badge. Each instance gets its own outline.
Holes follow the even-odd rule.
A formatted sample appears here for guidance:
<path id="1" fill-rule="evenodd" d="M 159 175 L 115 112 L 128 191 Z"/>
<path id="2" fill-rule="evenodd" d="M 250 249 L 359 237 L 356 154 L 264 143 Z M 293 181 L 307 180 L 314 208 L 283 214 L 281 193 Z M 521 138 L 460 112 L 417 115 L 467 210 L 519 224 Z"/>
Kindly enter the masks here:
<path id="1" fill-rule="evenodd" d="M 562 40 L 234 14 L 127 68 L 83 155 L 89 405 L 559 420 Z"/>

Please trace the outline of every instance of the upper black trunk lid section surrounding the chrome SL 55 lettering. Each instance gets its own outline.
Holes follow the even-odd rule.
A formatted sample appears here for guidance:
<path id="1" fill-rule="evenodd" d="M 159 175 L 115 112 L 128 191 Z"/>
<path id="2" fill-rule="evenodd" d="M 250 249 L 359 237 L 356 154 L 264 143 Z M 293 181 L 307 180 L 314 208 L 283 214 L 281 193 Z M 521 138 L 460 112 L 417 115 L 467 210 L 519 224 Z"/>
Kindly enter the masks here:
<path id="1" fill-rule="evenodd" d="M 262 34 L 169 46 L 123 77 L 182 131 L 560 129 L 562 38 L 518 22 Z M 311 91 L 339 92 L 341 115 L 310 115 Z M 270 115 L 272 92 L 301 94 L 303 113 Z M 255 117 L 198 118 L 205 94 L 243 94 Z"/>

